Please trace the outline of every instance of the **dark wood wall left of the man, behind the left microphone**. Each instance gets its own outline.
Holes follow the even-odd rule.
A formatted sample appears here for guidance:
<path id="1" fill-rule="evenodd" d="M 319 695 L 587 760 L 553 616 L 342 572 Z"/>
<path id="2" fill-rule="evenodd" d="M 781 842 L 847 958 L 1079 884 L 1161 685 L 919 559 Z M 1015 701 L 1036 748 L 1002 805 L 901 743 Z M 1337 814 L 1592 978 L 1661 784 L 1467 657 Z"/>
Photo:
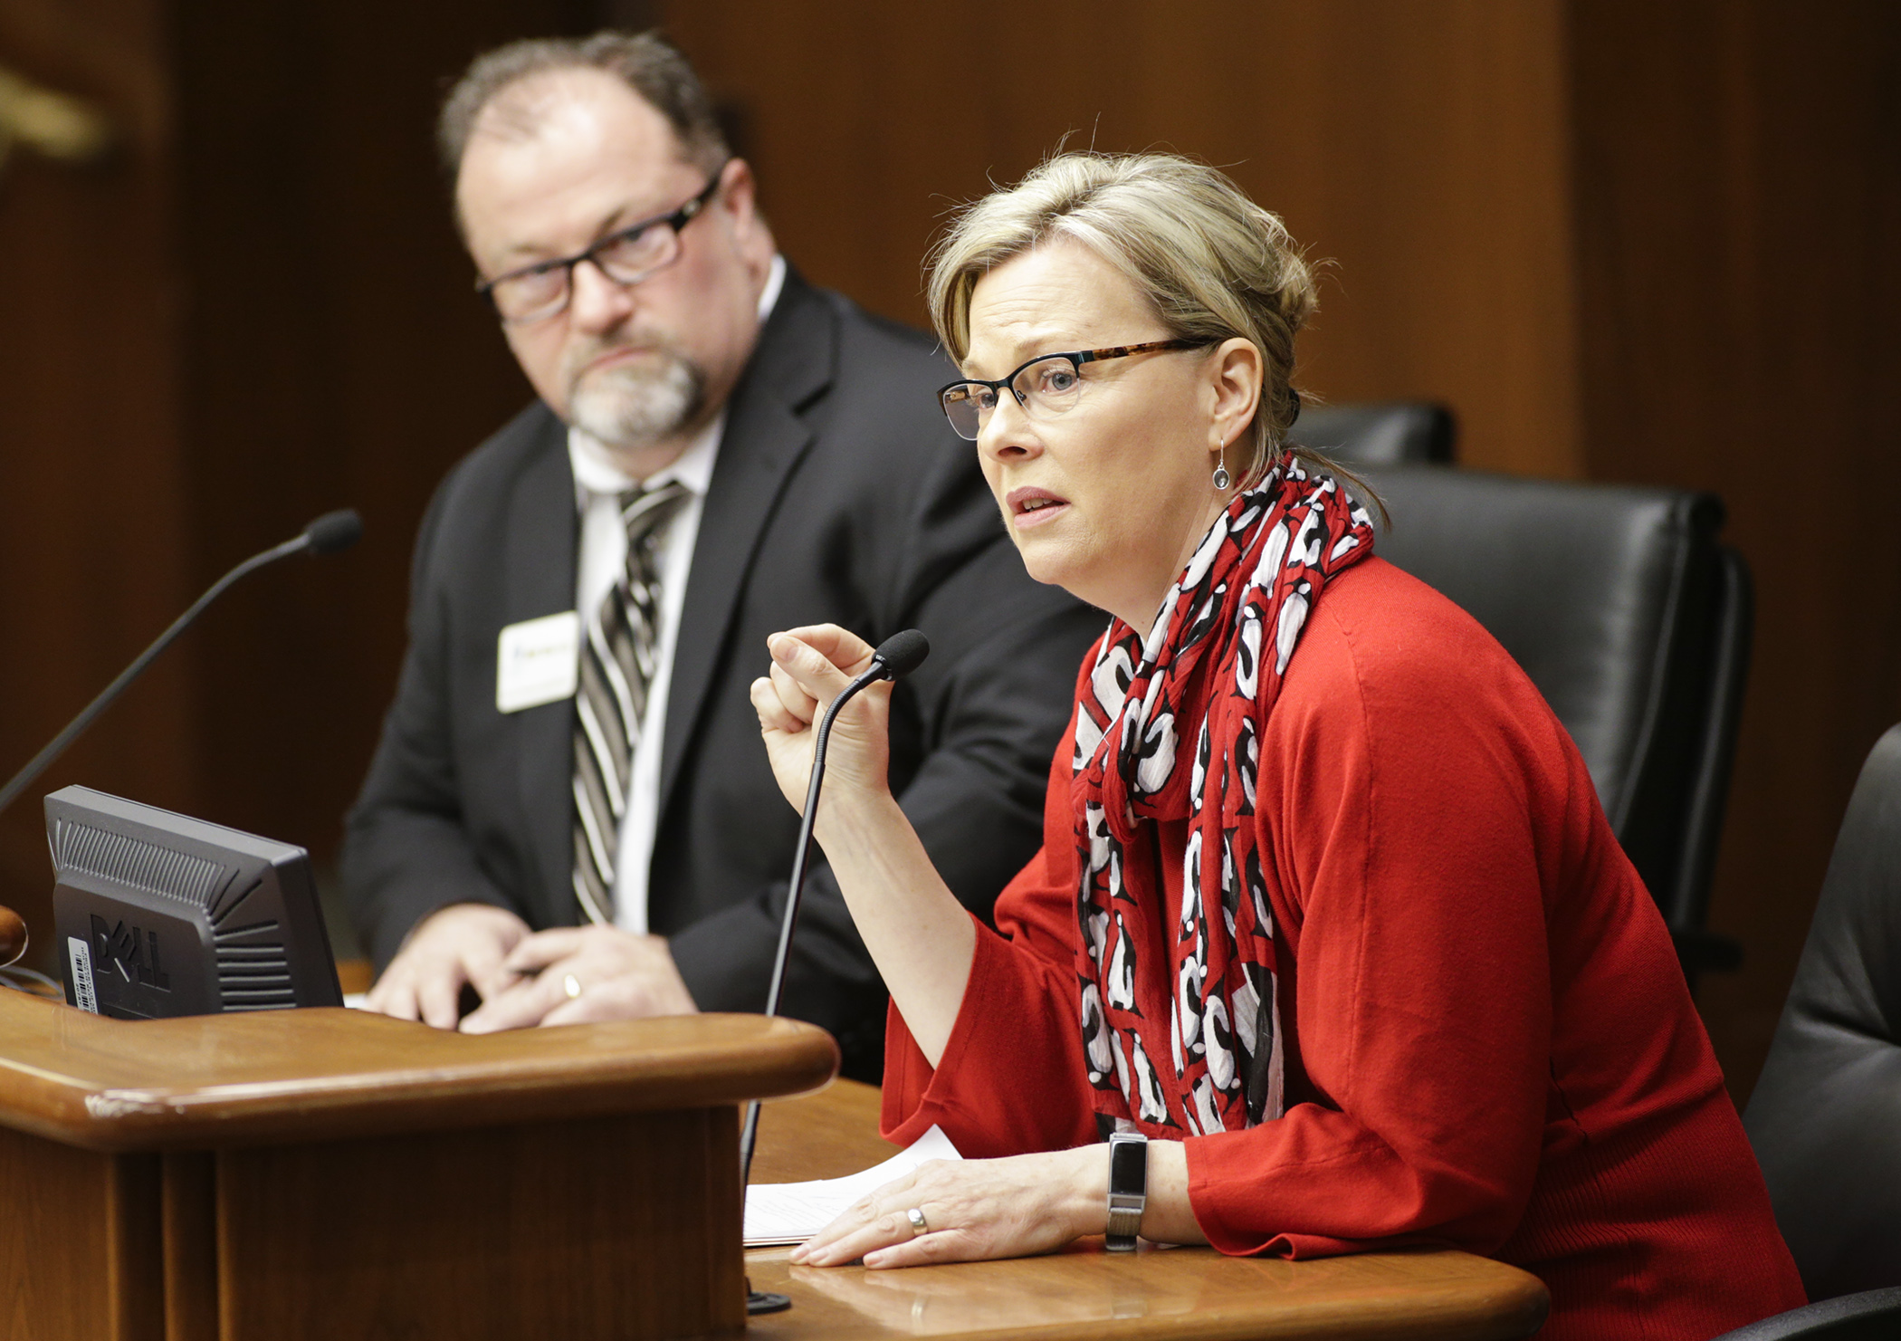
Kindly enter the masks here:
<path id="1" fill-rule="evenodd" d="M 0 175 L 0 776 L 230 565 L 355 506 L 352 554 L 249 578 L 0 816 L 49 966 L 38 791 L 84 782 L 327 860 L 403 647 L 409 546 L 528 388 L 433 160 L 468 59 L 589 0 L 15 0 L 0 63 L 103 103 L 120 156 Z"/>

